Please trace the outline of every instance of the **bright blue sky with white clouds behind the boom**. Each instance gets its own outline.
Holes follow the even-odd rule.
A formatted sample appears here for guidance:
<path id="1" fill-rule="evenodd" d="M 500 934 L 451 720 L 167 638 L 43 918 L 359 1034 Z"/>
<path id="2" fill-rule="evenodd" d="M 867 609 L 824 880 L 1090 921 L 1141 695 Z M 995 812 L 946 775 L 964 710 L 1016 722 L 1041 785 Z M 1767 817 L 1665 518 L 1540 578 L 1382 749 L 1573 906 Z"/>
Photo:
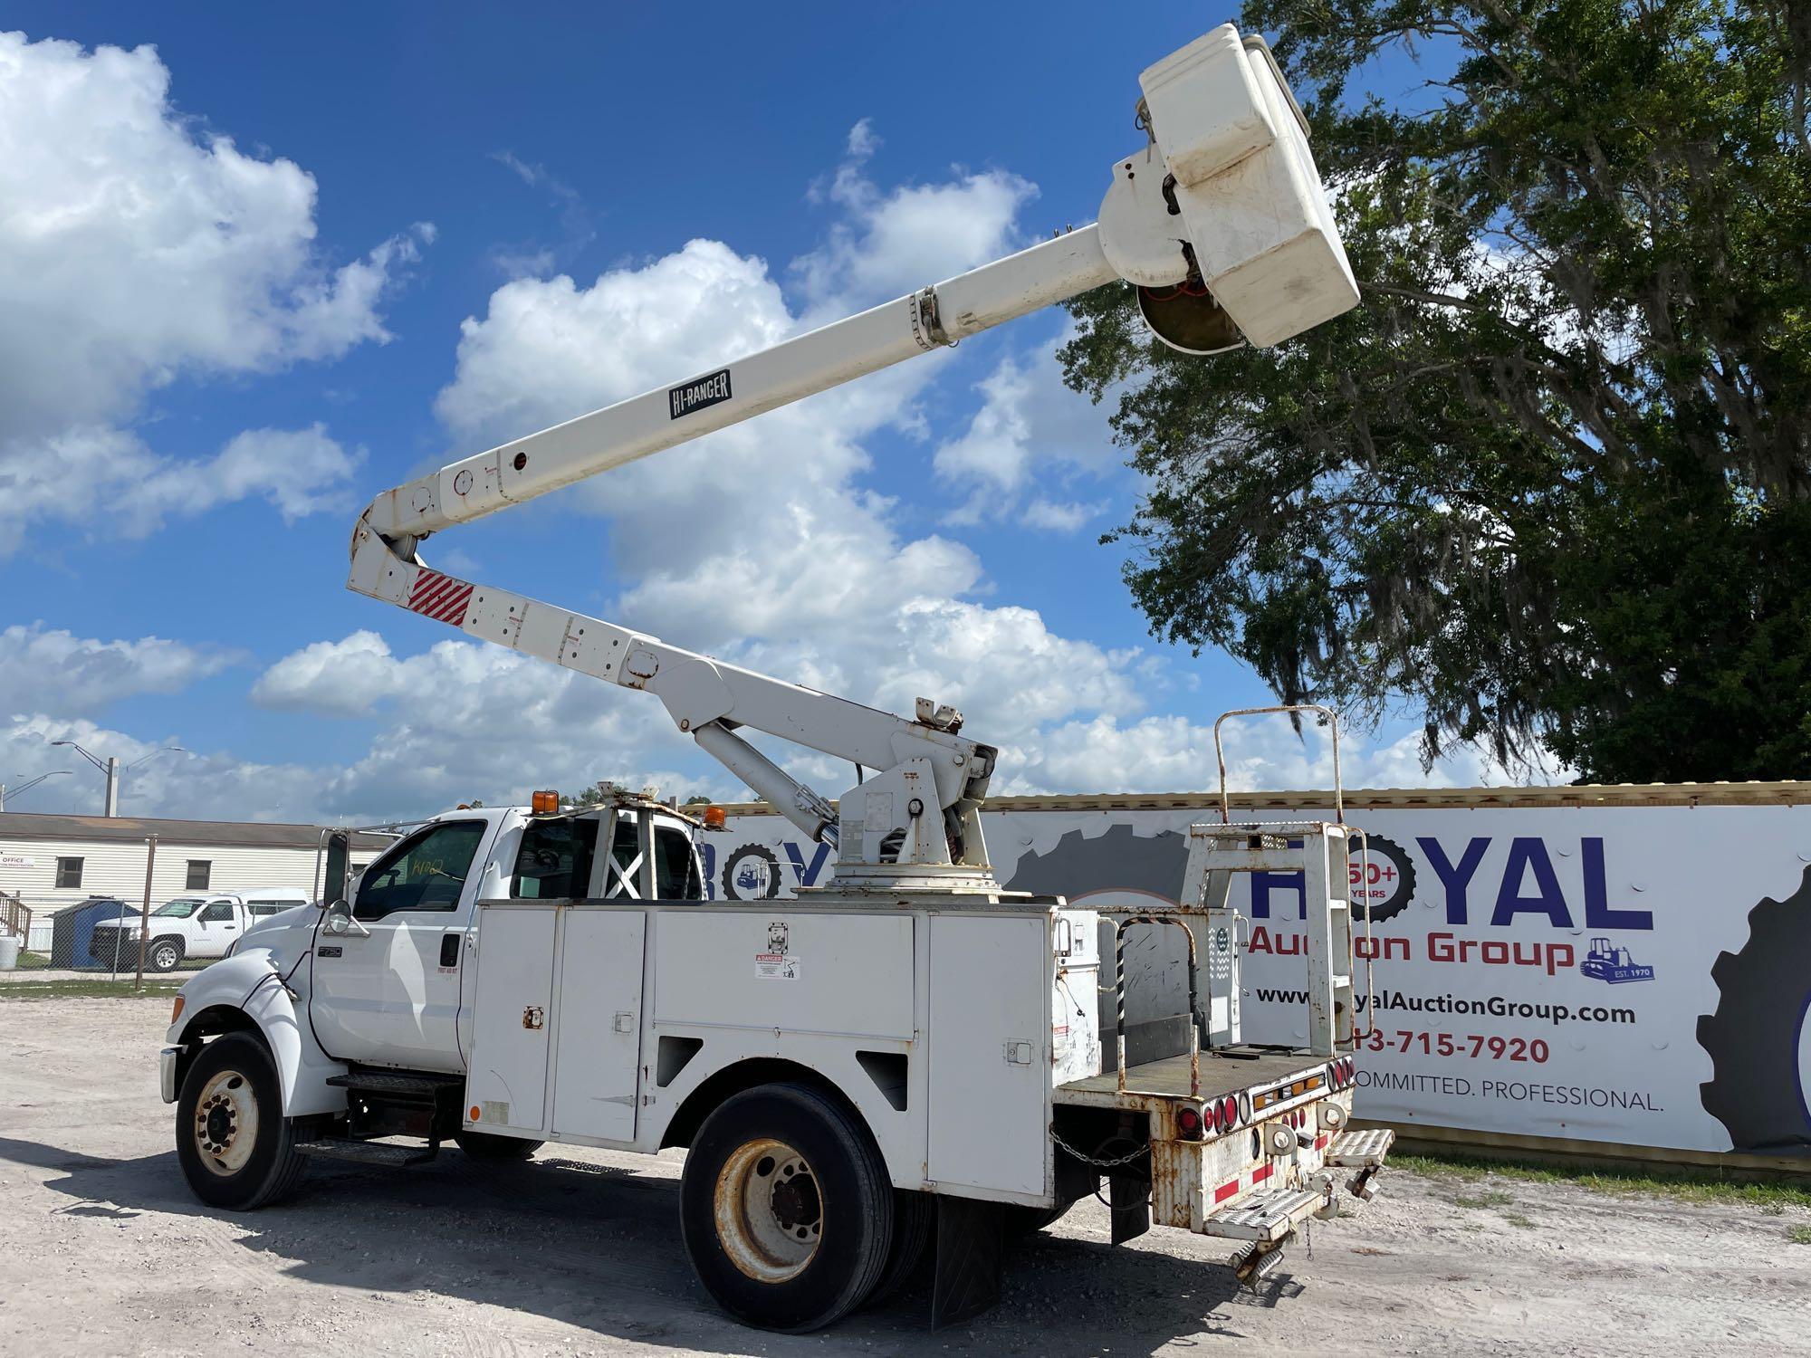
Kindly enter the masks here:
<path id="1" fill-rule="evenodd" d="M 592 777 L 733 795 L 657 704 L 348 594 L 357 509 L 1092 221 L 1139 69 L 1226 16 L 1099 13 L 7 5 L 0 780 L 74 770 L 13 809 L 98 804 L 47 739 L 181 744 L 127 784 L 147 815 L 400 817 Z M 1139 487 L 1059 387 L 1063 324 L 427 558 L 862 701 L 956 701 L 1001 791 L 1208 786 L 1213 715 L 1270 693 L 1146 637 L 1096 541 Z M 1423 780 L 1407 728 L 1360 744 L 1351 782 Z M 1235 766 L 1304 786 L 1324 750 L 1259 730 Z"/>

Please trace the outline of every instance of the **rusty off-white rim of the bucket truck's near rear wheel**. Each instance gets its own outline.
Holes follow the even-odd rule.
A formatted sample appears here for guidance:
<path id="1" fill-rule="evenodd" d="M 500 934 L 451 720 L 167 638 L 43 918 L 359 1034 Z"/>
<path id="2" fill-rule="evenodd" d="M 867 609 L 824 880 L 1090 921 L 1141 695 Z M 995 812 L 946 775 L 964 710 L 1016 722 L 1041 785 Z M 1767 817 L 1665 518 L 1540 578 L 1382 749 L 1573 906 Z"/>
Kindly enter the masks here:
<path id="1" fill-rule="evenodd" d="M 824 1237 L 824 1199 L 810 1161 L 784 1141 L 761 1137 L 735 1150 L 717 1173 L 717 1238 L 755 1282 L 797 1278 Z"/>

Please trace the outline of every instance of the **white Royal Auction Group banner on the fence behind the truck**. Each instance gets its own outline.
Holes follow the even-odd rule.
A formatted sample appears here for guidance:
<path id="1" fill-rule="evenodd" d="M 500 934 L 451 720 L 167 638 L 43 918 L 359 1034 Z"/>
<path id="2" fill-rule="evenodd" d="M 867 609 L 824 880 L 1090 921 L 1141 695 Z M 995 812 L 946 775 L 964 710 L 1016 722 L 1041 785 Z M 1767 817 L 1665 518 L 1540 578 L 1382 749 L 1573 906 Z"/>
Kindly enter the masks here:
<path id="1" fill-rule="evenodd" d="M 1369 860 L 1351 865 L 1360 1117 L 1811 1155 L 1811 804 L 1655 791 L 1668 804 L 1639 804 L 1637 789 L 1610 806 L 1514 789 L 1347 804 L 1369 838 Z M 1188 826 L 1219 820 L 1204 806 L 1050 800 L 983 813 L 994 871 L 1103 913 L 1174 902 Z M 1233 811 L 1331 818 L 1308 804 Z M 833 855 L 753 813 L 704 837 L 704 865 L 715 898 L 762 900 L 824 885 Z M 1300 875 L 1239 873 L 1231 905 L 1250 922 L 1244 1039 L 1302 1041 Z"/>

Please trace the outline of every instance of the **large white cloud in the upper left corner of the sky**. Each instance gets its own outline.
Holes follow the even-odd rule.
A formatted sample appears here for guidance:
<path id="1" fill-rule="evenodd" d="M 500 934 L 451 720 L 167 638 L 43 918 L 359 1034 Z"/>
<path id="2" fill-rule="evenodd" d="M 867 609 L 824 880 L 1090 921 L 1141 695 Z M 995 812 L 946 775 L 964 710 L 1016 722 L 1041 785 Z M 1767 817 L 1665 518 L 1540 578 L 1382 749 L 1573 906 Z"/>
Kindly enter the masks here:
<path id="1" fill-rule="evenodd" d="M 139 482 L 187 494 L 216 471 L 237 489 L 210 503 L 266 494 L 304 512 L 295 476 L 248 473 L 250 445 L 194 464 L 127 426 L 177 378 L 389 339 L 380 301 L 433 228 L 335 263 L 315 244 L 315 196 L 293 161 L 248 156 L 181 112 L 156 49 L 0 33 L 0 554 L 33 520 L 81 516 L 85 498 L 107 505 Z M 165 496 L 139 525 L 172 507 Z"/>

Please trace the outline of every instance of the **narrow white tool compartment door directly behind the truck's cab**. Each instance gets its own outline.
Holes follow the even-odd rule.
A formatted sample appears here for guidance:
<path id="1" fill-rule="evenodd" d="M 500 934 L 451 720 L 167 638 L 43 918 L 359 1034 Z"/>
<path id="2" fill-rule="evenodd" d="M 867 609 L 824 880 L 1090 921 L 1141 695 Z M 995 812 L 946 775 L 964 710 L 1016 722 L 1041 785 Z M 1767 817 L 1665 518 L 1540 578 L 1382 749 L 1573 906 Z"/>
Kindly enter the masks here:
<path id="1" fill-rule="evenodd" d="M 478 922 L 465 1124 L 480 1132 L 543 1132 L 558 914 L 549 905 L 487 904 Z"/>

